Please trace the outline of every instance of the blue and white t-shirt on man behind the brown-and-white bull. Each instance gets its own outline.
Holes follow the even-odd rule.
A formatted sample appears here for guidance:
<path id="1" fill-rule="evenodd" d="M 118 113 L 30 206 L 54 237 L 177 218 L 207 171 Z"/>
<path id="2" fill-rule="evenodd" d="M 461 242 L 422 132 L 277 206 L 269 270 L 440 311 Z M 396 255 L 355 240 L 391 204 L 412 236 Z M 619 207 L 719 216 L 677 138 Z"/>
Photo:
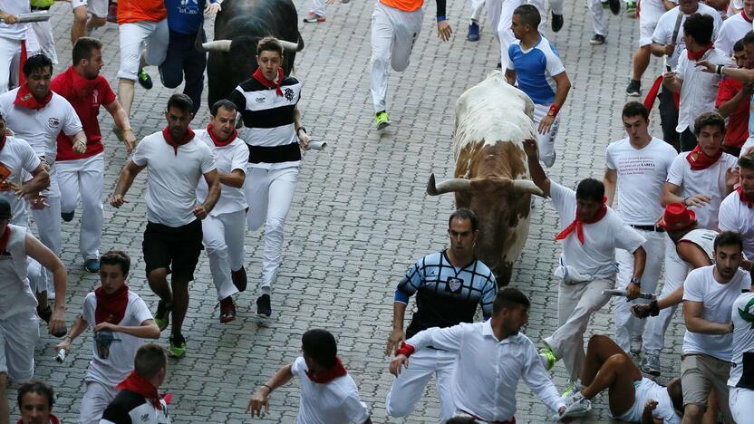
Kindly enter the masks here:
<path id="1" fill-rule="evenodd" d="M 553 75 L 565 72 L 563 62 L 555 46 L 545 37 L 531 49 L 524 51 L 521 41 L 516 40 L 507 49 L 510 58 L 507 69 L 516 71 L 518 88 L 534 101 L 534 104 L 549 105 L 555 101 L 556 82 Z"/>

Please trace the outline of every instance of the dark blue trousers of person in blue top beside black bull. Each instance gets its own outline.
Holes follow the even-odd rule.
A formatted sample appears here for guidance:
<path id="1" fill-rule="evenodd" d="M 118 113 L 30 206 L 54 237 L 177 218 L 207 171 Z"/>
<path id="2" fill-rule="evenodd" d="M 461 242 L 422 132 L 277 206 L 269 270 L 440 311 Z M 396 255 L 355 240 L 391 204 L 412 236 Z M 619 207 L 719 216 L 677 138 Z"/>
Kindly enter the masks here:
<path id="1" fill-rule="evenodd" d="M 202 31 L 202 40 L 207 36 Z M 186 77 L 183 93 L 194 102 L 194 114 L 201 106 L 201 92 L 204 89 L 204 69 L 207 67 L 207 53 L 194 48 L 196 34 L 180 34 L 170 30 L 170 43 L 165 62 L 160 65 L 160 79 L 167 88 L 176 88 Z"/>

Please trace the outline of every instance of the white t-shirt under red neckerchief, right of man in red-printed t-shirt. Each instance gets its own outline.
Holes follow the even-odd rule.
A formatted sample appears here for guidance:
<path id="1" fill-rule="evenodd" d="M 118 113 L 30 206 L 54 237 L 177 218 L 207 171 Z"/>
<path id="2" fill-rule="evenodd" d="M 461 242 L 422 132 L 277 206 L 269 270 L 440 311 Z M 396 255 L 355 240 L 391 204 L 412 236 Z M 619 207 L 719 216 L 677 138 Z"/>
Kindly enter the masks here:
<path id="1" fill-rule="evenodd" d="M 725 172 L 735 168 L 738 159 L 728 153 L 723 153 L 710 168 L 691 170 L 691 164 L 686 159 L 690 154 L 690 151 L 684 151 L 673 160 L 671 170 L 668 171 L 667 182 L 681 188 L 678 193 L 681 198 L 689 198 L 697 194 L 710 196 L 712 199 L 709 204 L 703 207 L 693 207 L 693 211 L 700 228 L 717 231 L 720 203 L 726 196 Z"/>

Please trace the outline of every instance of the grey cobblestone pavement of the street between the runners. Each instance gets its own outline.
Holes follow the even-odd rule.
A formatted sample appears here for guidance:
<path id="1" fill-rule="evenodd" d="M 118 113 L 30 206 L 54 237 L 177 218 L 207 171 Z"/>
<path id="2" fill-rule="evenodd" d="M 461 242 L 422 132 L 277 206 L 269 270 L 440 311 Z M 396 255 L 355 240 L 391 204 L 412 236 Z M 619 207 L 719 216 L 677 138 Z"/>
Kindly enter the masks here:
<path id="1" fill-rule="evenodd" d="M 238 1 L 238 0 L 227 0 Z M 623 137 L 620 110 L 626 100 L 631 55 L 636 46 L 638 23 L 626 16 L 608 13 L 607 43 L 591 46 L 588 10 L 583 0 L 566 0 L 565 27 L 556 36 L 546 35 L 564 58 L 573 89 L 563 110 L 558 135 L 558 159 L 550 175 L 566 185 L 587 176 L 602 177 L 604 148 Z M 297 2 L 299 15 L 308 4 Z M 372 420 L 381 422 L 437 422 L 439 408 L 433 383 L 417 410 L 408 419 L 388 419 L 384 409 L 390 389 L 385 340 L 391 325 L 392 293 L 409 265 L 447 243 L 446 217 L 452 198 L 430 198 L 424 188 L 430 172 L 438 178 L 452 175 L 450 153 L 453 104 L 498 62 L 498 43 L 485 26 L 478 43 L 466 41 L 469 2 L 449 2 L 449 18 L 455 34 L 449 43 L 436 36 L 435 6 L 430 4 L 422 33 L 414 47 L 411 65 L 390 79 L 388 111 L 392 125 L 382 134 L 373 130 L 369 96 L 368 63 L 372 2 L 352 1 L 327 7 L 327 22 L 299 24 L 306 42 L 297 56 L 296 76 L 304 82 L 304 124 L 314 140 L 327 141 L 329 149 L 308 152 L 296 190 L 294 206 L 285 226 L 285 256 L 274 287 L 271 320 L 256 319 L 254 301 L 260 281 L 263 242 L 260 234 L 247 235 L 249 290 L 241 294 L 238 317 L 233 323 L 218 323 L 214 286 L 205 255 L 191 284 L 191 303 L 186 322 L 186 358 L 169 362 L 169 376 L 161 390 L 174 393 L 171 415 L 175 422 L 246 422 L 247 400 L 258 385 L 278 367 L 299 353 L 301 334 L 313 327 L 332 331 L 340 354 L 357 381 L 362 400 L 372 410 Z M 54 31 L 62 61 L 70 60 L 69 31 L 72 15 L 67 3 L 53 6 Z M 208 28 L 211 23 L 207 24 Z M 117 84 L 118 32 L 114 24 L 97 30 L 105 43 L 103 74 Z M 211 39 L 211 36 L 210 36 Z M 249 58 L 251 60 L 251 58 Z M 646 90 L 652 72 L 644 78 Z M 155 88 L 136 92 L 131 124 L 139 138 L 164 126 L 161 112 L 169 90 L 159 82 L 156 69 L 148 69 Z M 205 92 L 206 98 L 206 92 Z M 111 118 L 102 111 L 106 141 L 105 197 L 127 160 L 125 150 L 112 136 Z M 101 115 L 101 116 L 102 116 Z M 652 118 L 659 120 L 656 112 Z M 195 128 L 206 125 L 208 110 L 202 106 Z M 655 125 L 655 135 L 660 134 Z M 145 218 L 145 179 L 137 178 L 127 198 L 131 203 L 114 210 L 105 205 L 102 251 L 119 247 L 133 258 L 131 288 L 150 307 L 157 298 L 144 278 L 141 255 Z M 551 276 L 559 253 L 553 242 L 556 213 L 536 201 L 527 246 L 516 267 L 512 284 L 532 300 L 525 332 L 534 342 L 555 330 L 556 282 Z M 63 260 L 70 269 L 69 325 L 80 311 L 83 297 L 98 284 L 95 275 L 82 270 L 78 256 L 79 216 L 63 223 Z M 663 377 L 680 369 L 682 329 L 677 324 L 668 337 L 662 357 Z M 36 376 L 53 384 L 59 398 L 55 411 L 63 422 L 74 422 L 84 390 L 83 377 L 91 358 L 92 332 L 85 332 L 63 363 L 53 361 L 53 339 L 45 332 L 37 350 Z M 593 318 L 591 333 L 613 333 L 609 311 Z M 160 343 L 167 345 L 167 333 Z M 557 386 L 565 386 L 565 369 L 556 366 Z M 13 414 L 14 389 L 10 390 Z M 517 421 L 548 422 L 550 412 L 524 386 L 517 390 Z M 272 395 L 270 414 L 264 422 L 295 422 L 298 384 Z M 606 397 L 594 401 L 594 412 L 584 422 L 611 422 Z M 257 419 L 258 420 L 258 419 Z"/>

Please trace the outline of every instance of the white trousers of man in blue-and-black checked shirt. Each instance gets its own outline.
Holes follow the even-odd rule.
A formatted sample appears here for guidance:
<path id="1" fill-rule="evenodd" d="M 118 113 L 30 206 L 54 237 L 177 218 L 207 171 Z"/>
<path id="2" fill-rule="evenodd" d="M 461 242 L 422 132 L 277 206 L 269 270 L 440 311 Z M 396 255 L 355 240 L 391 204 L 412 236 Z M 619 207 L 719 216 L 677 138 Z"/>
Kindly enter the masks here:
<path id="1" fill-rule="evenodd" d="M 414 410 L 432 374 L 437 376 L 437 392 L 440 398 L 440 422 L 450 419 L 455 413 L 452 376 L 456 355 L 446 351 L 424 348 L 411 355 L 408 368 L 392 381 L 385 400 L 385 409 L 391 417 L 405 417 Z"/>

